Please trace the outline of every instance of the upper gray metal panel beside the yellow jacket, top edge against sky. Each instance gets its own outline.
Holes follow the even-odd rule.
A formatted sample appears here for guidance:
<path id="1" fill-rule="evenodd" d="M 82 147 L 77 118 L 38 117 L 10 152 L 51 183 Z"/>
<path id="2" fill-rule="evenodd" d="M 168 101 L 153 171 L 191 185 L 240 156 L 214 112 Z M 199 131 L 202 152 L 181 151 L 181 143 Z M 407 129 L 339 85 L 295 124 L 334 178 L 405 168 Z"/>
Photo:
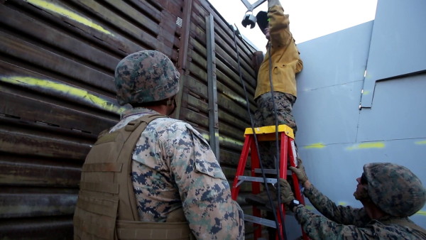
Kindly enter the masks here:
<path id="1" fill-rule="evenodd" d="M 364 80 L 372 27 L 373 21 L 369 21 L 297 44 L 303 60 L 303 70 L 297 75 L 297 94 Z"/>

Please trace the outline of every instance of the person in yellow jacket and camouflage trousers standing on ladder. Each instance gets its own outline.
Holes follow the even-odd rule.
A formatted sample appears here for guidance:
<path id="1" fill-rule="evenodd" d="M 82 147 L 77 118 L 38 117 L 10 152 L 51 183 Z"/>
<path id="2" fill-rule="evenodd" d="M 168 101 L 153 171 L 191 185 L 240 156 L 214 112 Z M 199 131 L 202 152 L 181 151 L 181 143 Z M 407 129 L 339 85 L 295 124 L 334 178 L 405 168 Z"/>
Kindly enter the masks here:
<path id="1" fill-rule="evenodd" d="M 275 126 L 285 124 L 297 131 L 292 114 L 297 97 L 295 75 L 302 71 L 303 62 L 297 50 L 295 40 L 290 32 L 288 14 L 284 14 L 279 0 L 268 0 L 268 12 L 260 11 L 256 21 L 268 39 L 266 55 L 258 70 L 254 99 L 258 109 L 254 116 L 255 126 Z M 272 83 L 272 84 L 271 84 Z M 273 141 L 261 141 L 258 146 L 263 168 L 275 168 L 276 148 Z M 276 193 L 273 194 L 276 200 Z M 268 195 L 262 192 L 249 196 L 246 202 L 268 204 Z M 268 216 L 273 219 L 273 216 Z M 271 229 L 270 236 L 275 236 Z"/>

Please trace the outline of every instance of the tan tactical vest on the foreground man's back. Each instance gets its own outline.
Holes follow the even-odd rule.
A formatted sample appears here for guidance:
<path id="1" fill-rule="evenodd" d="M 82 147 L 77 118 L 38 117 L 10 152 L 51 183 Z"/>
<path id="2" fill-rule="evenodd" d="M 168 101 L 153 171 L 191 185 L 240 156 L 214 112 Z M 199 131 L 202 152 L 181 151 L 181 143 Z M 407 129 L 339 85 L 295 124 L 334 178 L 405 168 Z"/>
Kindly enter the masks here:
<path id="1" fill-rule="evenodd" d="M 82 167 L 74 214 L 74 239 L 192 239 L 182 208 L 167 222 L 140 222 L 131 182 L 131 156 L 136 141 L 159 114 L 130 121 L 100 134 Z"/>

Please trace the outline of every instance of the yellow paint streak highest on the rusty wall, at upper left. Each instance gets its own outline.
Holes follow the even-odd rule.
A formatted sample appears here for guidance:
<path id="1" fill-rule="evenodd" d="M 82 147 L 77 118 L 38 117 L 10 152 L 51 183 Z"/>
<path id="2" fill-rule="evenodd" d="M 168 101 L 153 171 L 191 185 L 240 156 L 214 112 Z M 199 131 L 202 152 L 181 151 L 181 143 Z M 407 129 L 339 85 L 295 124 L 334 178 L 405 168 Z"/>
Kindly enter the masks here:
<path id="1" fill-rule="evenodd" d="M 93 23 L 92 20 L 88 18 L 84 18 L 84 16 L 80 16 L 76 13 L 73 13 L 72 11 L 68 9 L 64 9 L 62 6 L 58 6 L 55 4 L 52 4 L 48 1 L 43 0 L 26 0 L 28 3 L 33 4 L 35 6 L 39 6 L 42 9 L 46 9 L 49 11 L 53 11 L 55 13 L 59 13 L 62 16 L 66 16 L 67 18 L 70 18 L 72 20 L 75 20 L 79 23 L 84 24 L 85 26 L 89 26 L 90 28 L 94 28 L 97 31 L 100 31 L 102 33 L 107 33 L 109 35 L 114 35 L 111 32 L 107 31 L 106 29 L 102 28 L 102 26 L 97 25 L 96 23 Z"/>

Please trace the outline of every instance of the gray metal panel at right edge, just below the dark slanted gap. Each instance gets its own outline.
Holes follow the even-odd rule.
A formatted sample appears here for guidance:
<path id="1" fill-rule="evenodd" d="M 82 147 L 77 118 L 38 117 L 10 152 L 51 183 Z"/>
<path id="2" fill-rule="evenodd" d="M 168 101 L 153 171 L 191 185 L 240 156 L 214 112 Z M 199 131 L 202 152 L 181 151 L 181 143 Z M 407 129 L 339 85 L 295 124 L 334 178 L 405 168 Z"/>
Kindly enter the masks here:
<path id="1" fill-rule="evenodd" d="M 425 89 L 426 74 L 377 82 L 373 107 L 361 110 L 358 141 L 425 138 Z"/>

